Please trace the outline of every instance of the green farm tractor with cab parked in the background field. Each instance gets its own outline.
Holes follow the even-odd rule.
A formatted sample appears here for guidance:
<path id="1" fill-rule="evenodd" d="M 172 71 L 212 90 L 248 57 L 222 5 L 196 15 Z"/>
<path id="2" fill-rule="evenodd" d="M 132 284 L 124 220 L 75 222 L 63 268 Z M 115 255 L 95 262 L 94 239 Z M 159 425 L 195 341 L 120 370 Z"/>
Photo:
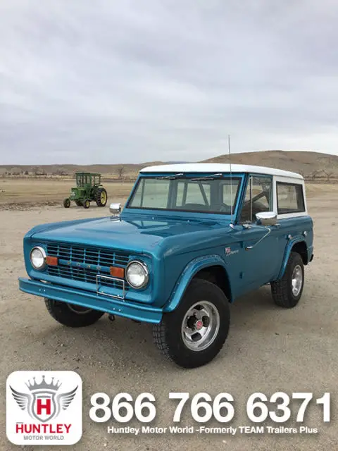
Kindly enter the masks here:
<path id="1" fill-rule="evenodd" d="M 90 172 L 77 172 L 76 187 L 72 188 L 70 197 L 63 201 L 65 209 L 70 207 L 70 201 L 74 201 L 77 206 L 84 206 L 89 209 L 90 202 L 95 201 L 97 206 L 105 206 L 107 203 L 107 192 L 101 185 L 101 174 Z"/>

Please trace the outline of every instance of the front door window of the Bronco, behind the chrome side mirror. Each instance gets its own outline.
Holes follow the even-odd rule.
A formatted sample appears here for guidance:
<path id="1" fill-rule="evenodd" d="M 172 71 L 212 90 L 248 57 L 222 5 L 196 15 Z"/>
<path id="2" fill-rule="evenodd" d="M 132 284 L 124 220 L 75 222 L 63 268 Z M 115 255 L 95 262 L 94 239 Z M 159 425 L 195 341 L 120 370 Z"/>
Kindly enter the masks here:
<path id="1" fill-rule="evenodd" d="M 246 187 L 240 221 L 255 222 L 256 214 L 273 210 L 273 180 L 270 177 L 251 176 Z"/>

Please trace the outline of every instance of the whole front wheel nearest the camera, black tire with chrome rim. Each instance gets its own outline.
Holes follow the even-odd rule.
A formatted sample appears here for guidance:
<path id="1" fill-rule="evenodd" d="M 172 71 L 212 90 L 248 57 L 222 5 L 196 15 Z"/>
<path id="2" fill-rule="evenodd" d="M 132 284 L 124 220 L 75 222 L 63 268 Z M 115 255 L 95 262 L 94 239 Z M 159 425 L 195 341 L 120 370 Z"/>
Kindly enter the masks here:
<path id="1" fill-rule="evenodd" d="M 230 326 L 229 302 L 217 285 L 194 279 L 177 309 L 154 324 L 153 337 L 168 359 L 184 368 L 210 362 L 220 352 Z"/>

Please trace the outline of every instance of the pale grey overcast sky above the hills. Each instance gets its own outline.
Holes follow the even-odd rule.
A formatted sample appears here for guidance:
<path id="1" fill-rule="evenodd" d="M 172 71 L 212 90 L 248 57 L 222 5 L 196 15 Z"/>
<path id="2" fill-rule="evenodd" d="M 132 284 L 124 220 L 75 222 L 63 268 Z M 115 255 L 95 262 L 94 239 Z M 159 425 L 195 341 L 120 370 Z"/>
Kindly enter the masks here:
<path id="1" fill-rule="evenodd" d="M 337 0 L 0 0 L 0 163 L 338 153 Z"/>

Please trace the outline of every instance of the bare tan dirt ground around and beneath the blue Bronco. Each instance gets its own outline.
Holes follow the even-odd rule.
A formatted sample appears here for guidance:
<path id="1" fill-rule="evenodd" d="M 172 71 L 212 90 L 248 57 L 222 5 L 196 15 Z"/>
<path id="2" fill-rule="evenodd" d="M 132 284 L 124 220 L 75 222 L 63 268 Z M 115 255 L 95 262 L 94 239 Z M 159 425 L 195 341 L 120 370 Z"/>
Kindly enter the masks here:
<path id="1" fill-rule="evenodd" d="M 277 308 L 268 287 L 237 299 L 231 307 L 230 336 L 222 352 L 211 364 L 190 371 L 161 357 L 147 324 L 127 319 L 111 323 L 104 316 L 88 328 L 65 328 L 49 316 L 42 298 L 18 290 L 17 279 L 25 276 L 22 242 L 27 230 L 39 223 L 108 213 L 94 206 L 89 210 L 75 206 L 68 210 L 61 206 L 24 209 L 27 192 L 18 190 L 20 209 L 0 211 L 1 393 L 5 393 L 6 377 L 15 370 L 77 371 L 83 381 L 84 431 L 80 443 L 71 447 L 74 450 L 338 450 L 338 187 L 309 185 L 307 190 L 308 209 L 315 221 L 315 259 L 306 268 L 301 302 L 292 310 Z M 109 187 L 108 194 L 111 201 L 119 202 L 126 193 Z M 245 414 L 249 395 L 280 390 L 289 395 L 309 391 L 315 397 L 332 393 L 330 424 L 323 423 L 315 402 L 305 417 L 306 426 L 319 428 L 315 435 L 110 435 L 106 426 L 111 422 L 94 424 L 88 413 L 90 396 L 98 391 L 111 395 L 149 391 L 156 397 L 157 426 L 169 426 L 173 425 L 175 406 L 168 400 L 170 391 L 191 395 L 227 392 L 233 395 L 237 412 L 231 425 L 244 426 L 251 425 Z M 294 402 L 294 407 L 298 405 Z M 5 396 L 0 399 L 0 412 L 0 450 L 18 449 L 8 443 L 4 432 Z M 189 409 L 183 416 L 183 425 L 194 424 Z M 56 451 L 62 447 L 22 449 Z"/>

